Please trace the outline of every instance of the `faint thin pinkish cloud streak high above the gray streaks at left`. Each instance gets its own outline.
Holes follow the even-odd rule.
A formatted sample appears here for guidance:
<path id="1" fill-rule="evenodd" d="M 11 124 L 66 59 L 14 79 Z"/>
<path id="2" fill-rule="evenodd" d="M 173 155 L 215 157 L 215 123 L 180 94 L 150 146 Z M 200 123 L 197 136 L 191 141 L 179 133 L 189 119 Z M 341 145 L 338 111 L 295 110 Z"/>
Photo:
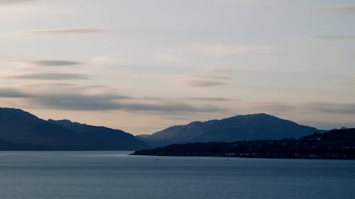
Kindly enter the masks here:
<path id="1" fill-rule="evenodd" d="M 50 30 L 30 30 L 26 33 L 35 33 L 43 35 L 92 35 L 92 34 L 102 34 L 109 33 L 108 29 L 100 28 L 73 28 L 73 29 L 50 29 Z"/>

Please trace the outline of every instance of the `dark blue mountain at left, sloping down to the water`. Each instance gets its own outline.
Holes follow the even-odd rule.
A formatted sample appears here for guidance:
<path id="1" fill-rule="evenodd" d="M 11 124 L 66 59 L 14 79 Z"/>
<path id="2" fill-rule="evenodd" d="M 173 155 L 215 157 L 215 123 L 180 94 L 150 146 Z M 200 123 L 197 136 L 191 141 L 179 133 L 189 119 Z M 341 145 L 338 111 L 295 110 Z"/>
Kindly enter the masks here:
<path id="1" fill-rule="evenodd" d="M 41 120 L 26 111 L 0 108 L 0 150 L 119 150 L 146 145 L 121 130 Z"/>

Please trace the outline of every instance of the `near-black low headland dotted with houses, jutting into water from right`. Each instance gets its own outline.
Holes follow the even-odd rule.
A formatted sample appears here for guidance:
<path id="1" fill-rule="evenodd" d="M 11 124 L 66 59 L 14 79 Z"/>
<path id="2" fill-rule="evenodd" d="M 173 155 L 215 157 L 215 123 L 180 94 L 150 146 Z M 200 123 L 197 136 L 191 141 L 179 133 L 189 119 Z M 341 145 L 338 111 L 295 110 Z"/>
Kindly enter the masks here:
<path id="1" fill-rule="evenodd" d="M 315 133 L 298 140 L 196 142 L 141 150 L 133 155 L 355 159 L 355 129 Z"/>

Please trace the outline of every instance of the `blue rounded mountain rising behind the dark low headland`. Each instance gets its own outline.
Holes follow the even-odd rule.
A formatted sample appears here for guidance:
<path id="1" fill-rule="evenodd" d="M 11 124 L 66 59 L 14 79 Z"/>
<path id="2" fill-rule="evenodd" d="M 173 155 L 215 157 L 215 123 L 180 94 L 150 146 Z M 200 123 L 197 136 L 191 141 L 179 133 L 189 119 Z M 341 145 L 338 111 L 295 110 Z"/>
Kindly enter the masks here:
<path id="1" fill-rule="evenodd" d="M 313 132 L 323 131 L 261 113 L 238 115 L 223 120 L 193 122 L 188 125 L 168 127 L 165 130 L 153 133 L 153 135 L 138 135 L 137 137 L 150 147 L 161 147 L 187 142 L 234 142 L 237 140 L 299 138 Z"/>

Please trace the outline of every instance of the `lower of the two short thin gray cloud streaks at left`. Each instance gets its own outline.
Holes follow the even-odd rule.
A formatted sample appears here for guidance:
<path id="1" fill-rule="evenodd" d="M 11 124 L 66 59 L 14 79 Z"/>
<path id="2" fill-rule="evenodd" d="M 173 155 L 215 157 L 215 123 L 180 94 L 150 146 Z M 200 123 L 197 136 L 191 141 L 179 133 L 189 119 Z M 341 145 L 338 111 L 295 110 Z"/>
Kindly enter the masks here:
<path id="1" fill-rule="evenodd" d="M 15 79 L 44 79 L 44 80 L 70 80 L 70 79 L 91 79 L 88 74 L 75 73 L 32 73 L 9 76 Z"/>

